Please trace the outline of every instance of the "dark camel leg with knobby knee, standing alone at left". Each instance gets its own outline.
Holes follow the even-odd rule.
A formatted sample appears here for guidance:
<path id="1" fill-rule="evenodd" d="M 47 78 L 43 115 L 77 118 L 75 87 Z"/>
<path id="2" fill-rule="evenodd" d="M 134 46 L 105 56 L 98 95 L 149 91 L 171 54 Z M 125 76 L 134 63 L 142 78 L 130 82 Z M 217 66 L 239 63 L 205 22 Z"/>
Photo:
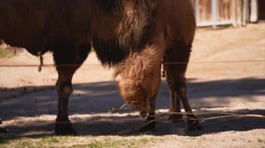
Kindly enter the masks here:
<path id="1" fill-rule="evenodd" d="M 73 92 L 73 74 L 89 54 L 91 45 L 59 44 L 54 50 L 54 61 L 58 72 L 56 83 L 59 96 L 55 133 L 59 135 L 75 135 L 75 129 L 68 118 L 68 99 Z"/>

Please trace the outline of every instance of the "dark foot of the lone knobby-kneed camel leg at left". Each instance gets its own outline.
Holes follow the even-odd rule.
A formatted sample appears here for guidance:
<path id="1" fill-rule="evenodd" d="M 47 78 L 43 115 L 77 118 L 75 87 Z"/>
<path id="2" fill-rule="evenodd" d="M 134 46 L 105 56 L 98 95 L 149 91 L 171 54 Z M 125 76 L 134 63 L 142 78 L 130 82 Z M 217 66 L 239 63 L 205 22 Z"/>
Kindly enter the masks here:
<path id="1" fill-rule="evenodd" d="M 77 135 L 77 132 L 75 131 L 71 123 L 66 123 L 66 124 L 56 123 L 55 133 L 56 135 Z"/>

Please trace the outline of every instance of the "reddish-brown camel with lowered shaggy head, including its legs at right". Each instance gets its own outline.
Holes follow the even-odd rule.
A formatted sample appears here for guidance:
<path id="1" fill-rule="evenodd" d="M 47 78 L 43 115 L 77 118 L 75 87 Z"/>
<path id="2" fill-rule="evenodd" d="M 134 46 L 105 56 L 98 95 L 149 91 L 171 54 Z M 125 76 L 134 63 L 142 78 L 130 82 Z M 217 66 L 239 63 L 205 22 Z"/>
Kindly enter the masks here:
<path id="1" fill-rule="evenodd" d="M 185 71 L 195 35 L 194 12 L 190 1 L 163 1 L 159 6 L 156 27 L 148 45 L 143 51 L 130 55 L 120 63 L 114 77 L 121 75 L 118 88 L 123 100 L 127 104 L 134 104 L 141 115 L 149 113 L 146 119 L 149 126 L 141 130 L 151 130 L 156 124 L 156 96 L 160 88 L 163 60 L 171 99 L 169 112 L 172 115 L 169 115 L 169 120 L 182 119 L 181 100 L 185 111 L 189 113 L 189 128 L 200 129 L 188 103 L 185 85 Z"/>

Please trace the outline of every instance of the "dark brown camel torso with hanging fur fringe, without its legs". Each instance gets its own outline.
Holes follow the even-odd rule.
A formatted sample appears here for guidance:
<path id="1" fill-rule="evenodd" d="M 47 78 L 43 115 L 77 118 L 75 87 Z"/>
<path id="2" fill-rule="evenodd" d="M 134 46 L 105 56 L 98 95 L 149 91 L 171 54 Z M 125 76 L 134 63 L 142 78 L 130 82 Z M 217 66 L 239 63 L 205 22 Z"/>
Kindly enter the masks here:
<path id="1" fill-rule="evenodd" d="M 0 0 L 0 38 L 36 56 L 61 42 L 93 44 L 112 67 L 146 44 L 156 10 L 157 0 Z"/>

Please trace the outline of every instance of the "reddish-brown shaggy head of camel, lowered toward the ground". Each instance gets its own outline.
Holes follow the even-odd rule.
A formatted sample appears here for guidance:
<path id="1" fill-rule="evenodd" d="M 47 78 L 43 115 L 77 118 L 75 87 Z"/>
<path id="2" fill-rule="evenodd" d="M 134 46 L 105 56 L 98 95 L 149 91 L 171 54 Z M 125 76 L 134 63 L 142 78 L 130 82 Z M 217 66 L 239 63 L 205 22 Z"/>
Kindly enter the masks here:
<path id="1" fill-rule="evenodd" d="M 154 47 L 147 47 L 130 55 L 120 63 L 114 72 L 114 79 L 121 76 L 118 88 L 126 104 L 134 104 L 141 115 L 145 116 L 150 110 L 150 103 L 155 104 L 154 98 L 161 83 L 161 53 Z"/>

